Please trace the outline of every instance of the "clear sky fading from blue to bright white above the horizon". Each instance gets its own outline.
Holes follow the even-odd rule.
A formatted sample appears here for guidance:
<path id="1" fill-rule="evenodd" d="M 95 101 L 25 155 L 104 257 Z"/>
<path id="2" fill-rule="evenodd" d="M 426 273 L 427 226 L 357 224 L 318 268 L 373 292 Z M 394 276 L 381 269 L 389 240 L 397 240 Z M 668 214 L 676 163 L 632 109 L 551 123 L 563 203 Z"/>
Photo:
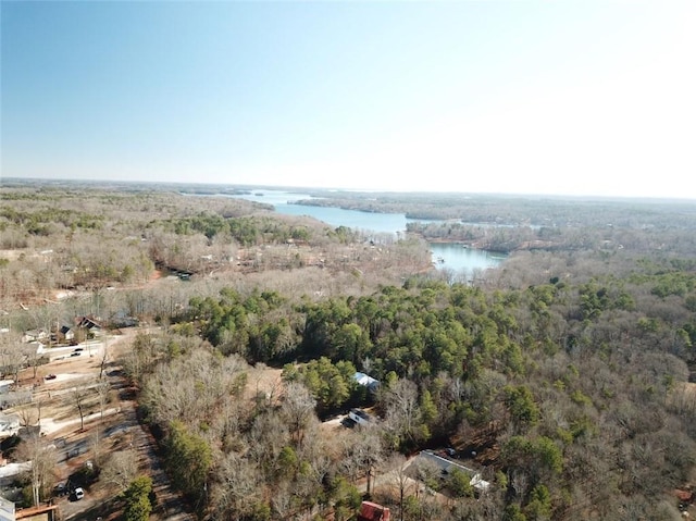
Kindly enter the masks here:
<path id="1" fill-rule="evenodd" d="M 696 2 L 0 2 L 7 177 L 696 199 Z"/>

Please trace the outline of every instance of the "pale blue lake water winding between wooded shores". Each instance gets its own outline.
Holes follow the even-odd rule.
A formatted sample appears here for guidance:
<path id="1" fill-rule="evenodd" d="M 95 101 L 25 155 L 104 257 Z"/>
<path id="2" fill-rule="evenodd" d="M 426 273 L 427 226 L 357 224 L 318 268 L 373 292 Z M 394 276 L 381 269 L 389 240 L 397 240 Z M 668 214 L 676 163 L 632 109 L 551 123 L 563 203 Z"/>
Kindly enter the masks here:
<path id="1" fill-rule="evenodd" d="M 312 199 L 309 194 L 295 194 L 281 190 L 252 190 L 252 194 L 235 195 L 249 201 L 273 204 L 275 211 L 286 215 L 309 215 L 331 226 L 347 226 L 372 233 L 397 234 L 406 232 L 406 223 L 418 222 L 418 219 L 407 219 L 402 213 L 370 213 L 343 208 L 310 207 L 291 204 L 293 201 Z M 422 221 L 421 221 L 422 222 Z M 467 278 L 474 271 L 496 268 L 505 257 L 488 251 L 464 248 L 453 243 L 431 243 L 433 262 L 440 270 L 451 270 L 456 274 L 465 274 Z"/>

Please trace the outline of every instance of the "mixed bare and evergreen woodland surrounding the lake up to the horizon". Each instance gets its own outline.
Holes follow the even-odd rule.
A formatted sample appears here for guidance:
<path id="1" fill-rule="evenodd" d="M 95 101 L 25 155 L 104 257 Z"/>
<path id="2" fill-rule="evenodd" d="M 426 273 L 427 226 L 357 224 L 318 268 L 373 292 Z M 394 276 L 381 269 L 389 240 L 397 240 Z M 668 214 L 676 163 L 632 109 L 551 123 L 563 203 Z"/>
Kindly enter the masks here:
<path id="1" fill-rule="evenodd" d="M 451 223 L 374 245 L 182 191 L 4 186 L 1 308 L 18 331 L 76 314 L 160 326 L 123 365 L 201 519 L 347 520 L 365 496 L 405 520 L 681 519 L 673 493 L 696 464 L 693 207 L 431 195 Z M 370 210 L 435 216 L 413 199 Z M 430 262 L 435 238 L 511 255 L 451 282 Z M 276 392 L 250 393 L 266 367 Z M 353 407 L 375 424 L 327 435 Z M 408 475 L 432 494 L 399 479 L 443 447 L 490 487 L 421 461 Z M 387 473 L 400 489 L 375 486 Z"/>

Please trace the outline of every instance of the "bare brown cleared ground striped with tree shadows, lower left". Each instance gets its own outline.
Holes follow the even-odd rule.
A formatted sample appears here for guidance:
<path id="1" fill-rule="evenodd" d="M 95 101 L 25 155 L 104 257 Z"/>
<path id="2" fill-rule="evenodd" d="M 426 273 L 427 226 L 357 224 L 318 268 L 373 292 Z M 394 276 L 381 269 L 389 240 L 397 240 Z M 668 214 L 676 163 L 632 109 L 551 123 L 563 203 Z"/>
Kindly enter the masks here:
<path id="1" fill-rule="evenodd" d="M 76 351 L 78 356 L 71 356 L 76 347 L 51 349 L 51 361 L 38 368 L 36 376 L 33 369 L 20 375 L 17 387 L 32 390 L 32 404 L 5 412 L 17 413 L 22 423 L 40 425 L 42 436 L 55 446 L 57 483 L 65 483 L 88 462 L 103 461 L 113 451 L 133 450 L 137 455 L 139 473 L 150 475 L 154 482 L 157 506 L 151 519 L 192 519 L 170 487 L 157 458 L 154 439 L 137 421 L 135 394 L 117 365 L 120 353 L 130 347 L 138 331 L 142 330 L 124 330 L 121 335 L 82 345 L 82 351 Z M 102 369 L 109 383 L 105 400 L 99 399 L 96 389 Z M 54 377 L 47 380 L 48 375 Z M 77 407 L 80 393 L 87 396 L 82 402 L 82 420 Z M 66 496 L 60 496 L 54 503 L 63 519 L 116 519 L 120 510 L 116 493 L 113 487 L 97 481 L 86 486 L 83 500 L 71 501 Z"/>

